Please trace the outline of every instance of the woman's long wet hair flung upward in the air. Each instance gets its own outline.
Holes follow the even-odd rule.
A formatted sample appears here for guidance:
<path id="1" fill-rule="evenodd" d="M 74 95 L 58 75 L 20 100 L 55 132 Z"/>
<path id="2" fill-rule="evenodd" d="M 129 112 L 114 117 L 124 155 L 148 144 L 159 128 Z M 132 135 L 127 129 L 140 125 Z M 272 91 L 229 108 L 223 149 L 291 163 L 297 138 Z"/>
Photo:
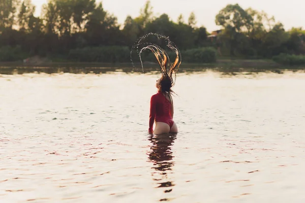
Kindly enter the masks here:
<path id="1" fill-rule="evenodd" d="M 176 53 L 176 58 L 173 63 L 170 62 L 168 54 L 160 47 L 150 45 L 146 48 L 150 49 L 157 58 L 162 74 L 160 80 L 161 91 L 162 93 L 168 93 L 170 101 L 172 102 L 172 94 L 175 92 L 171 88 L 176 82 L 176 72 L 181 64 L 181 55 L 176 47 L 168 47 Z"/>

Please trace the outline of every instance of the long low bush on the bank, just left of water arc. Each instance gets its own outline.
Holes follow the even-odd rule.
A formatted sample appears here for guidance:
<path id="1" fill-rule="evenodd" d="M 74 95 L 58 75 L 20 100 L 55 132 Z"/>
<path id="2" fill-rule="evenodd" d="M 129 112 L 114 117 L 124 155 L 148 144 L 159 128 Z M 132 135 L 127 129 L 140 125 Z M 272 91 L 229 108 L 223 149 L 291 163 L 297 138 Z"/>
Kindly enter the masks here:
<path id="1" fill-rule="evenodd" d="M 129 62 L 130 51 L 119 46 L 85 47 L 70 50 L 68 58 L 79 62 Z"/>

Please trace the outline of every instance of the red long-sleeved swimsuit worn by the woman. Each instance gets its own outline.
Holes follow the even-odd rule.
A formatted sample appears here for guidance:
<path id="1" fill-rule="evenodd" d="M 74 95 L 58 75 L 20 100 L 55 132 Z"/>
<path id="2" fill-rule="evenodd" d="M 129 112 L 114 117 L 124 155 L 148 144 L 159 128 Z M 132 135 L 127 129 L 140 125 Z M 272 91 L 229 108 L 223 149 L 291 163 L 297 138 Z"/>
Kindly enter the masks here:
<path id="1" fill-rule="evenodd" d="M 163 122 L 171 128 L 174 124 L 170 115 L 171 103 L 165 98 L 161 91 L 151 96 L 150 99 L 150 114 L 149 114 L 149 132 L 153 132 L 154 121 Z"/>

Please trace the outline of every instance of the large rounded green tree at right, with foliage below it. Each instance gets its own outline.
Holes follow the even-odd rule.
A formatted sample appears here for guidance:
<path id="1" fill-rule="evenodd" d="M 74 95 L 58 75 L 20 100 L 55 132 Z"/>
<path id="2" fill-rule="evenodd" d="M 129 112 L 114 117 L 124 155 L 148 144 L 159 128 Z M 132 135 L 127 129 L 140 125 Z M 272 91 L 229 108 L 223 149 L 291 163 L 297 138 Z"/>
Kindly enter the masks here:
<path id="1" fill-rule="evenodd" d="M 227 5 L 216 16 L 223 27 L 218 39 L 230 56 L 243 58 L 272 58 L 280 53 L 304 53 L 305 45 L 300 30 L 285 31 L 265 12 L 251 8 L 243 10 L 238 4 Z"/>

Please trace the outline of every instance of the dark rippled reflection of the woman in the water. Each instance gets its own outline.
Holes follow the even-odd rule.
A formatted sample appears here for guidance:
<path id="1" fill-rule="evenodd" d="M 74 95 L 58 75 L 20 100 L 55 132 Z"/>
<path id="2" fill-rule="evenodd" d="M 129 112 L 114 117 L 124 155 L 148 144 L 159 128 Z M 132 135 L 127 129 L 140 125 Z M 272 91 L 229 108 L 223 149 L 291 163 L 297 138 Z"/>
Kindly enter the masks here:
<path id="1" fill-rule="evenodd" d="M 151 142 L 150 153 L 148 154 L 148 159 L 150 162 L 154 163 L 151 167 L 156 171 L 152 172 L 153 180 L 158 182 L 159 188 L 161 187 L 172 187 L 174 183 L 169 181 L 168 174 L 172 170 L 174 165 L 172 146 L 176 139 L 176 134 L 151 134 L 148 140 Z M 156 176 L 161 176 L 156 177 Z M 164 192 L 171 192 L 172 189 L 167 189 Z"/>

